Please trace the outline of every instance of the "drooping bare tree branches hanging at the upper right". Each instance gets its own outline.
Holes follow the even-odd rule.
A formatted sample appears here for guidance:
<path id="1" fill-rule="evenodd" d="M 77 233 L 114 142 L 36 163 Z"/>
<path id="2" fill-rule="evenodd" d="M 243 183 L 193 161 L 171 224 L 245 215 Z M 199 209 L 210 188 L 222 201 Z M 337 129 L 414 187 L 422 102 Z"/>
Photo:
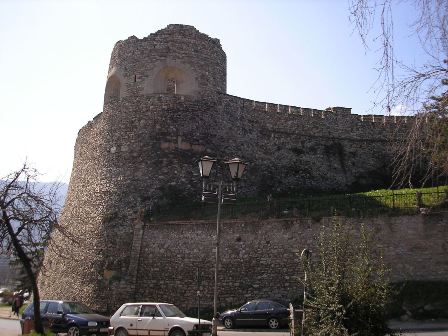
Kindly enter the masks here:
<path id="1" fill-rule="evenodd" d="M 373 108 L 390 114 L 400 107 L 416 117 L 408 136 L 397 147 L 395 185 L 425 184 L 434 177 L 448 176 L 448 167 L 441 160 L 448 156 L 441 142 L 448 137 L 448 0 L 349 0 L 349 4 L 350 17 L 364 45 L 379 44 Z M 394 23 L 406 15 L 397 11 L 397 5 L 412 6 L 418 13 L 407 35 L 418 38 L 420 50 L 416 53 L 426 55 L 420 63 L 408 64 L 395 52 Z"/>

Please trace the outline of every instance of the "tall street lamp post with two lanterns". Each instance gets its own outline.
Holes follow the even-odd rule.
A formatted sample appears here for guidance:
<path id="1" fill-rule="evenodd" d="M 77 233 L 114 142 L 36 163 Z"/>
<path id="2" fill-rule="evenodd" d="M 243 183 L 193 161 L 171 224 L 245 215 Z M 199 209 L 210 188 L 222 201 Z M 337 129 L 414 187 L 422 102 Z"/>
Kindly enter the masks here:
<path id="1" fill-rule="evenodd" d="M 218 202 L 218 211 L 216 214 L 216 241 L 215 241 L 215 285 L 213 290 L 213 320 L 212 335 L 217 335 L 217 303 L 218 303 L 218 268 L 219 268 L 219 247 L 220 247 L 220 220 L 221 205 L 225 199 L 236 199 L 236 182 L 241 179 L 243 172 L 247 166 L 242 160 L 234 158 L 224 163 L 229 167 L 230 176 L 233 180 L 231 184 L 224 183 L 222 178 L 218 182 L 210 183 L 206 180 L 210 177 L 212 167 L 218 160 L 204 156 L 199 160 L 199 172 L 202 177 L 202 201 L 207 201 L 216 197 Z"/>

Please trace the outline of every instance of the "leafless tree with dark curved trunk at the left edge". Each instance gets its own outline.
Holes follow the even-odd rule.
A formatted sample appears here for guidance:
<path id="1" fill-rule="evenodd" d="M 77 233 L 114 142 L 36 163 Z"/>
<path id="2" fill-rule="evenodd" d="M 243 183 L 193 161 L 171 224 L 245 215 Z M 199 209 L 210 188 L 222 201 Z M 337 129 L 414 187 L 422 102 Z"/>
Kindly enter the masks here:
<path id="1" fill-rule="evenodd" d="M 40 317 L 37 270 L 50 232 L 57 227 L 57 185 L 50 189 L 37 184 L 38 173 L 23 167 L 0 180 L 1 253 L 14 253 L 32 284 L 34 328 L 44 333 Z"/>

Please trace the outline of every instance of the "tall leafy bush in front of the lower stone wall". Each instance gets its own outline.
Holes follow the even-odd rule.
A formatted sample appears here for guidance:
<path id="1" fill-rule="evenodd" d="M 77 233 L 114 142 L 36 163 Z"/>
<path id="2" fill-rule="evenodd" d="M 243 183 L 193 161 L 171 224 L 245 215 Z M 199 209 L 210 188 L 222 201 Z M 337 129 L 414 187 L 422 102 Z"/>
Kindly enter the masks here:
<path id="1" fill-rule="evenodd" d="M 317 254 L 304 261 L 308 276 L 306 335 L 377 336 L 391 334 L 386 306 L 390 288 L 372 235 L 350 231 L 334 218 L 318 237 Z"/>

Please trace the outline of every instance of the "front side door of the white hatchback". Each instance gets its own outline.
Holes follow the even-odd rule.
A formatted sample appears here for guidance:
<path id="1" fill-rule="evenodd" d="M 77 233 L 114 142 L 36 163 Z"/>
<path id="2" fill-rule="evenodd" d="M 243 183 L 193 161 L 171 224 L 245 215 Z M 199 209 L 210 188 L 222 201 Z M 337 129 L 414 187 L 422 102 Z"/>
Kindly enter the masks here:
<path id="1" fill-rule="evenodd" d="M 164 336 L 168 334 L 168 324 L 155 304 L 142 305 L 137 319 L 138 335 Z"/>

